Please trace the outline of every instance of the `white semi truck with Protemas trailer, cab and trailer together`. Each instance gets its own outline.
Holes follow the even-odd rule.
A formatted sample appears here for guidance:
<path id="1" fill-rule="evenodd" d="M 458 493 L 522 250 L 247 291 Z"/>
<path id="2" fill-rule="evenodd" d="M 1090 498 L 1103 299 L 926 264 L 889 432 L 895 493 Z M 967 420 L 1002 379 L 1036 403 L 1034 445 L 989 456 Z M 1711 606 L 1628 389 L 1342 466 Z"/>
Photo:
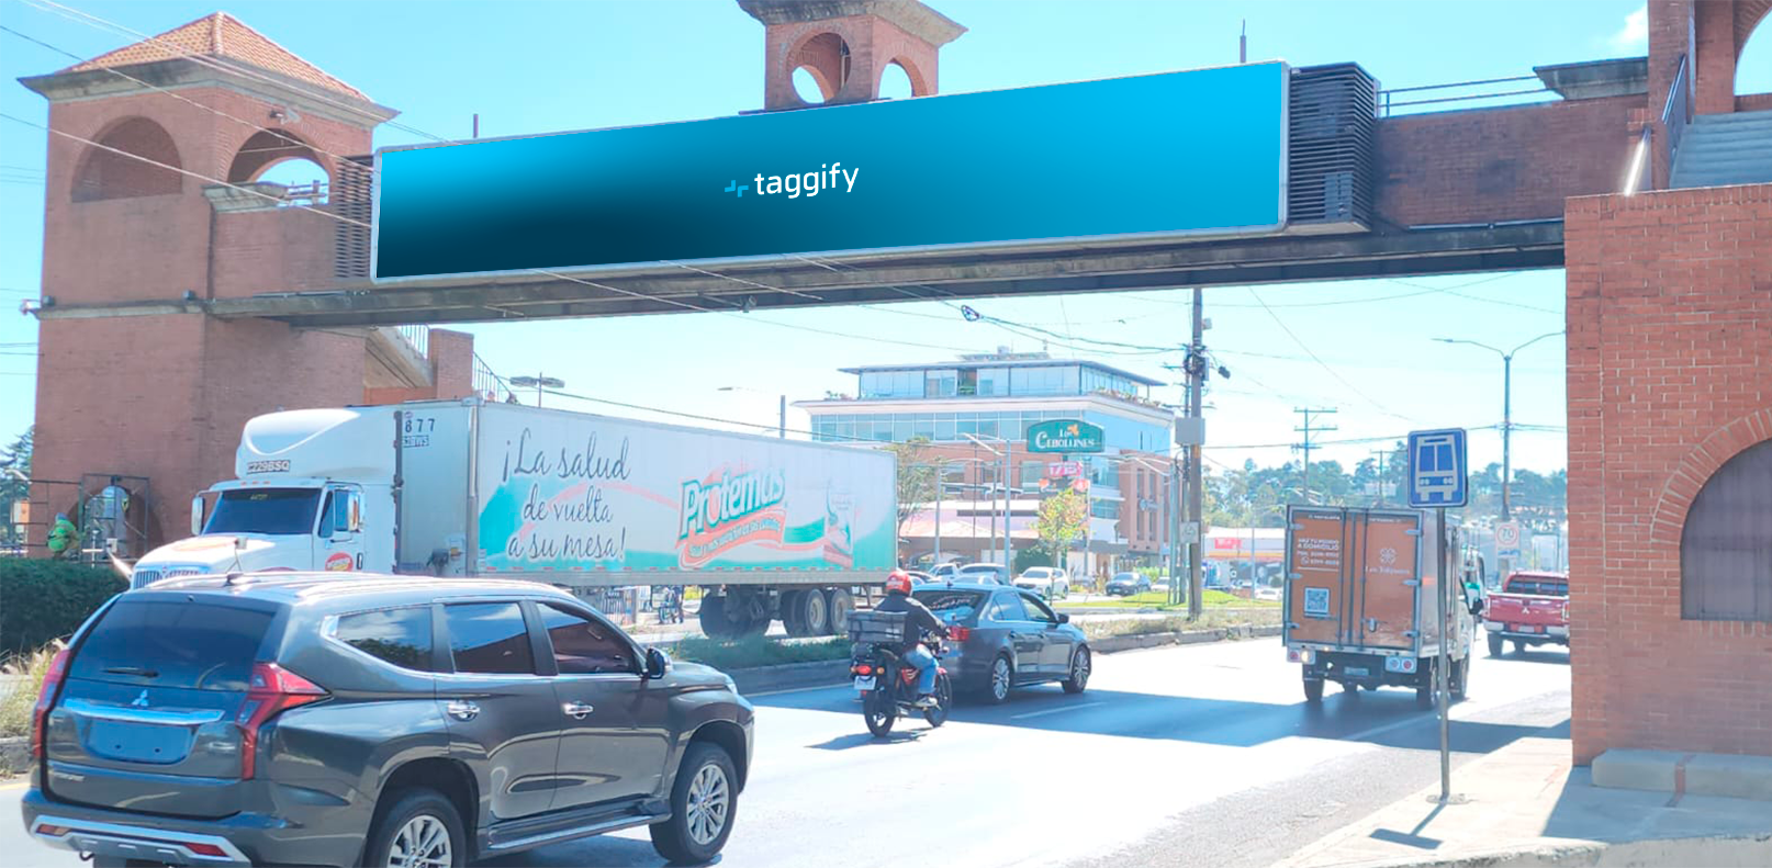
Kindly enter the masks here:
<path id="1" fill-rule="evenodd" d="M 865 446 L 464 399 L 257 416 L 234 475 L 133 586 L 234 570 L 700 586 L 709 636 L 773 620 L 817 636 L 897 565 L 895 459 Z"/>

